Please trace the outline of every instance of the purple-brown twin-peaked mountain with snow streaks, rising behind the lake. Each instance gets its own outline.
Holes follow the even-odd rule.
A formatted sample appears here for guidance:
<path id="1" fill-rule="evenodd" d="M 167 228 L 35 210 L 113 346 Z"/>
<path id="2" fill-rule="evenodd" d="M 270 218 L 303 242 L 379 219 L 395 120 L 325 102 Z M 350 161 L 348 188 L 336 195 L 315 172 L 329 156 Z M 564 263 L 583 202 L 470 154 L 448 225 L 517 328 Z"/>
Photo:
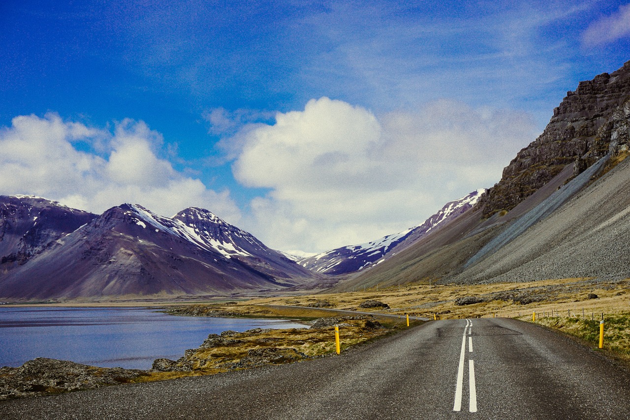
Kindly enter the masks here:
<path id="1" fill-rule="evenodd" d="M 3 241 L 4 242 L 4 241 Z M 0 276 L 5 300 L 230 295 L 283 289 L 311 272 L 207 210 L 173 218 L 112 207 Z"/>

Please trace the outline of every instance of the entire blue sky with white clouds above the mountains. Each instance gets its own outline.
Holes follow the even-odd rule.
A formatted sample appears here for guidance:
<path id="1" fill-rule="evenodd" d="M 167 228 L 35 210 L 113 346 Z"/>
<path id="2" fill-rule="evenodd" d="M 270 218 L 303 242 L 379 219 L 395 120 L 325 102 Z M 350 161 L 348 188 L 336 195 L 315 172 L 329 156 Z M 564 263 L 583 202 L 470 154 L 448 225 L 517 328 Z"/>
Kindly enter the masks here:
<path id="1" fill-rule="evenodd" d="M 628 60 L 627 0 L 3 0 L 0 194 L 369 242 L 494 185 Z"/>

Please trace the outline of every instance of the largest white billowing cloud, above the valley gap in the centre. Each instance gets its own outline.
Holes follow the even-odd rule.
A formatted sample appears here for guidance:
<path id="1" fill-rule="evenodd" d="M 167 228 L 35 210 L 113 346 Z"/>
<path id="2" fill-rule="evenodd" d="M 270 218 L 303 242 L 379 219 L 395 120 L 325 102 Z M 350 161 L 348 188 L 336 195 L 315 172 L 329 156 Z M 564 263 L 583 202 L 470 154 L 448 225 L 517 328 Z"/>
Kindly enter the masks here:
<path id="1" fill-rule="evenodd" d="M 459 102 L 377 117 L 324 97 L 245 128 L 232 170 L 271 190 L 251 202 L 251 231 L 275 248 L 321 251 L 418 225 L 490 187 L 535 130 L 528 115 Z"/>

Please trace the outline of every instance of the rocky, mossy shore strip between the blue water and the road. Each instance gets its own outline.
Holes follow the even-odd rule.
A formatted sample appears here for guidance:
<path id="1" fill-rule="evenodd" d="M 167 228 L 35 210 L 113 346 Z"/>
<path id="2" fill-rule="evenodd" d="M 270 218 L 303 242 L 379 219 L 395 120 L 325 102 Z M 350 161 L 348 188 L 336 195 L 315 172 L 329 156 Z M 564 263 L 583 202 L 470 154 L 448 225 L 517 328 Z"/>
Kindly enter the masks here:
<path id="1" fill-rule="evenodd" d="M 211 375 L 319 358 L 334 353 L 334 325 L 340 326 L 342 350 L 391 330 L 370 316 L 359 316 L 319 318 L 310 328 L 303 329 L 224 331 L 220 335 L 210 334 L 201 346 L 186 350 L 178 360 L 156 359 L 150 370 L 99 368 L 37 358 L 19 368 L 0 368 L 0 400 L 61 394 L 120 383 Z"/>

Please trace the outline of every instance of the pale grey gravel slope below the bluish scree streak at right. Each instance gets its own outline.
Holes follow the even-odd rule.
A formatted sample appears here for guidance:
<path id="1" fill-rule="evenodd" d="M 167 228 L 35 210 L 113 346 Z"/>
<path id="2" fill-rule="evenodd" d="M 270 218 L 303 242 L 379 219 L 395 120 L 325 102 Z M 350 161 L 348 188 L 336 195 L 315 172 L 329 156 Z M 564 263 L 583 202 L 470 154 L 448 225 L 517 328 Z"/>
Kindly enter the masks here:
<path id="1" fill-rule="evenodd" d="M 630 159 L 452 280 L 478 283 L 630 277 L 628 214 Z"/>

